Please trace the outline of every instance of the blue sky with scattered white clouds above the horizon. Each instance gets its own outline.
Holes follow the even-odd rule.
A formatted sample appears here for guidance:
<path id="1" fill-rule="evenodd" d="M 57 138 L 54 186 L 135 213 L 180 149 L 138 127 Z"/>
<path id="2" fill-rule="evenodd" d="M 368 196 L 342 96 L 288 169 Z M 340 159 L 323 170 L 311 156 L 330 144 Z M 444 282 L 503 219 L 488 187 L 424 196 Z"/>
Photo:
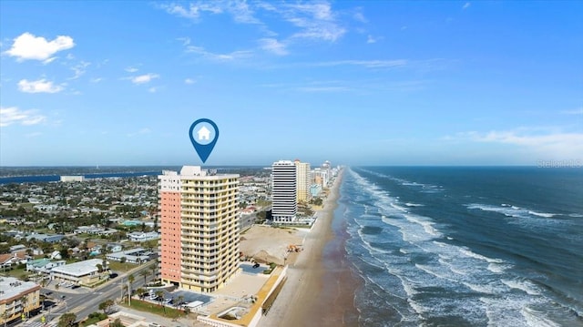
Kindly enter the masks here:
<path id="1" fill-rule="evenodd" d="M 0 166 L 583 164 L 582 2 L 0 2 Z"/>

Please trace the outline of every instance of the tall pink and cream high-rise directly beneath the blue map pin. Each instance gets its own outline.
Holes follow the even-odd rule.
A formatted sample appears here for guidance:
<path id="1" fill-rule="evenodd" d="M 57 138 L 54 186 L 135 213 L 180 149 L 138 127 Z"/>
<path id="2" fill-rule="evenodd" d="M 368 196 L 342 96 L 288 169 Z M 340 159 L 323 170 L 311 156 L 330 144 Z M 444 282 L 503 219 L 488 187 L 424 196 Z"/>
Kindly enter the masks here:
<path id="1" fill-rule="evenodd" d="M 159 176 L 161 280 L 182 289 L 220 289 L 239 271 L 239 175 L 199 166 Z"/>

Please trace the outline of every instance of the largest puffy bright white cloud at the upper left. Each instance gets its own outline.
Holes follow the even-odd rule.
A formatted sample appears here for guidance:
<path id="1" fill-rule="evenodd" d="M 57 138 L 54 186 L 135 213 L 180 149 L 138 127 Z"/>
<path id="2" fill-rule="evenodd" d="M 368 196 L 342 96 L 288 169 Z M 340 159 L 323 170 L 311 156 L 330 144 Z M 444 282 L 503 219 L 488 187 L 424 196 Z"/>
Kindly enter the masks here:
<path id="1" fill-rule="evenodd" d="M 5 53 L 15 56 L 18 61 L 41 60 L 49 63 L 55 60 L 58 51 L 70 49 L 75 46 L 71 36 L 56 36 L 56 39 L 47 41 L 45 37 L 34 36 L 28 32 L 14 39 L 14 44 Z"/>

